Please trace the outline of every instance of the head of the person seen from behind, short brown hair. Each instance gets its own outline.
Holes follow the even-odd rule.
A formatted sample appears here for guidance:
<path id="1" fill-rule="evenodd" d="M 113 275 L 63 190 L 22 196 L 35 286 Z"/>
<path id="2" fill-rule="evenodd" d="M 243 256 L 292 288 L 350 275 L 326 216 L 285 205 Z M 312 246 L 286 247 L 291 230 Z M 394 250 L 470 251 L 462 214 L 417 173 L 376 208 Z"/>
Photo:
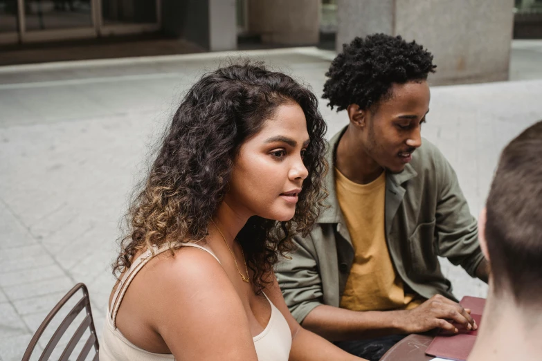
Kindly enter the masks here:
<path id="1" fill-rule="evenodd" d="M 479 232 L 491 293 L 542 308 L 542 121 L 503 150 Z"/>

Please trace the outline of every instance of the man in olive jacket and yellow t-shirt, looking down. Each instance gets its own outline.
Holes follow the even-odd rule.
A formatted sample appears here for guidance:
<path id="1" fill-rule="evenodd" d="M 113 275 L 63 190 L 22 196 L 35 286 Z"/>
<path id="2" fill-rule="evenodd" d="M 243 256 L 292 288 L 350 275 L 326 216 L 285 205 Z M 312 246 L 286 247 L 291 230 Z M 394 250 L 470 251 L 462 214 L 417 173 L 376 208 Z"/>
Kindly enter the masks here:
<path id="1" fill-rule="evenodd" d="M 382 34 L 334 59 L 323 98 L 350 124 L 329 142 L 327 208 L 277 266 L 298 322 L 368 360 L 408 333 L 477 328 L 437 259 L 487 281 L 455 172 L 420 135 L 434 69 L 422 46 Z"/>

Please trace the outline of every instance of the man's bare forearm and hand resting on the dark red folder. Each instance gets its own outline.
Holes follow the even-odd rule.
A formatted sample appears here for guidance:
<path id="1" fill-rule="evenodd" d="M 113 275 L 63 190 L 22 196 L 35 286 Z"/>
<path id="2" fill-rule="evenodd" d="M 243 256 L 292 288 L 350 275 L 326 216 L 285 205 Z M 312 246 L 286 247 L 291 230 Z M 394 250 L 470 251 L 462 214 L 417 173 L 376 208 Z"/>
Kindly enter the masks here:
<path id="1" fill-rule="evenodd" d="M 317 306 L 309 312 L 302 326 L 330 341 L 359 340 L 397 333 L 419 333 L 443 328 L 457 333 L 449 320 L 464 328 L 478 328 L 469 314 L 446 297 L 435 295 L 409 311 L 350 311 L 333 306 Z"/>

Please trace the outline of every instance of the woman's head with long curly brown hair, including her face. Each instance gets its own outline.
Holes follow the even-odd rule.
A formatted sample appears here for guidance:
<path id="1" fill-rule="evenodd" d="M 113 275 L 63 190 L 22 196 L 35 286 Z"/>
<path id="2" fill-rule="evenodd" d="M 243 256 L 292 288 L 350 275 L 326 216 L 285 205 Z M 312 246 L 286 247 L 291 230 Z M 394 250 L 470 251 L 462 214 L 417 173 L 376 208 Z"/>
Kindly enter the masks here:
<path id="1" fill-rule="evenodd" d="M 288 75 L 245 62 L 201 77 L 134 197 L 114 272 L 139 249 L 203 240 L 227 203 L 248 219 L 237 239 L 262 286 L 291 235 L 307 234 L 318 216 L 325 131 L 316 96 Z"/>

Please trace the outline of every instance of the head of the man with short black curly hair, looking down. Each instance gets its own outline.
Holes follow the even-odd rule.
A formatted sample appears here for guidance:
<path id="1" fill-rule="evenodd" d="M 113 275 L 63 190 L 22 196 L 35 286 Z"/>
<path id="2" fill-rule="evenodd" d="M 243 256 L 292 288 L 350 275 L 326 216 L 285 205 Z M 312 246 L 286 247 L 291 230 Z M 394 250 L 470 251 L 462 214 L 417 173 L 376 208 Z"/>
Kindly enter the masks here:
<path id="1" fill-rule="evenodd" d="M 343 45 L 329 67 L 323 98 L 347 110 L 361 147 L 381 167 L 401 172 L 422 145 L 433 55 L 415 41 L 374 34 Z"/>

